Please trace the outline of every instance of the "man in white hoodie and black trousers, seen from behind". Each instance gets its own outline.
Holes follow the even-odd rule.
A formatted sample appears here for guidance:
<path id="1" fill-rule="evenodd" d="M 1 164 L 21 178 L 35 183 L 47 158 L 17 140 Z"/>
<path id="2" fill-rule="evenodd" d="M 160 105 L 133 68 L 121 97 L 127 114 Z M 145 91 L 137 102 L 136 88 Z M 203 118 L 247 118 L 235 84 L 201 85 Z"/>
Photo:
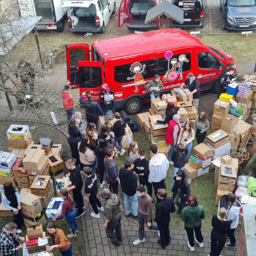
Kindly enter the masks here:
<path id="1" fill-rule="evenodd" d="M 153 157 L 151 158 L 148 166 L 150 171 L 148 175 L 148 182 L 152 183 L 157 202 L 160 202 L 160 199 L 157 197 L 157 189 L 166 189 L 165 178 L 169 168 L 169 162 L 166 156 L 162 153 L 157 153 L 157 150 L 157 145 L 151 144 L 150 151 L 152 152 Z"/>

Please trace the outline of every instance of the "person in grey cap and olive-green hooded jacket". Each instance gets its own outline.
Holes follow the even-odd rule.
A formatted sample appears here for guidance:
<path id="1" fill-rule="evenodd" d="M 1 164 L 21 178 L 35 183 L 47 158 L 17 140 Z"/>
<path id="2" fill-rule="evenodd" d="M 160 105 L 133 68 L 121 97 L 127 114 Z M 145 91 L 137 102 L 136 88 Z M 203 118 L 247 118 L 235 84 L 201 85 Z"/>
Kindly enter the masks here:
<path id="1" fill-rule="evenodd" d="M 105 199 L 103 214 L 106 218 L 104 223 L 106 236 L 110 238 L 112 244 L 120 245 L 122 241 L 121 212 L 119 199 L 116 194 L 111 194 L 108 188 L 99 192 L 99 196 Z"/>

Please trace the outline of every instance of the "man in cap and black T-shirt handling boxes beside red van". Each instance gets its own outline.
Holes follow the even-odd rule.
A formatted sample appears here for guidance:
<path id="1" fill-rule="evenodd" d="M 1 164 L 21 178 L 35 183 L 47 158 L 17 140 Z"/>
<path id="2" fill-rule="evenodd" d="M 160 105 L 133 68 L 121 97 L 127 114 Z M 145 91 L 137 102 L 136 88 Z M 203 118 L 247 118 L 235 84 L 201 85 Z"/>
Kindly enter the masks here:
<path id="1" fill-rule="evenodd" d="M 186 76 L 186 80 L 181 84 L 181 89 L 183 86 L 188 86 L 188 89 L 190 90 L 190 93 L 188 96 L 193 95 L 193 105 L 196 107 L 197 112 L 198 112 L 198 103 L 199 103 L 199 98 L 200 98 L 200 85 L 199 85 L 199 80 L 197 79 L 196 76 L 194 76 L 193 73 L 188 73 Z"/>

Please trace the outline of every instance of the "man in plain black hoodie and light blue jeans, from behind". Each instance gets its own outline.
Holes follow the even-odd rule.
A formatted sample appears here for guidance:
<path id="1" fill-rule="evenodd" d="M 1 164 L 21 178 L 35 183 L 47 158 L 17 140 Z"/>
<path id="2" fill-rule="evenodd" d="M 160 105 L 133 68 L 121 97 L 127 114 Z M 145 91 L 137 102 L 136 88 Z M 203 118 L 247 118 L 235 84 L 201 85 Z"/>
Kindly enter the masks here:
<path id="1" fill-rule="evenodd" d="M 132 212 L 133 218 L 138 218 L 138 197 L 136 194 L 137 177 L 132 172 L 133 163 L 129 160 L 125 161 L 125 167 L 119 170 L 119 179 L 122 191 L 124 193 L 125 213 L 129 217 Z M 130 208 L 131 203 L 131 208 Z"/>

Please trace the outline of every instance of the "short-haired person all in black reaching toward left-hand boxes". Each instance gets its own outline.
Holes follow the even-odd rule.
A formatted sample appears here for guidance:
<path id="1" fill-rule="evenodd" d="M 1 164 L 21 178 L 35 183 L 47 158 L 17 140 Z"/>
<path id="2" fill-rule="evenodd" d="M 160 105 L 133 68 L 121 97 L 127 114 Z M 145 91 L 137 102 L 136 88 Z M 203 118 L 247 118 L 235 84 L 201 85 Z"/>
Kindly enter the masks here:
<path id="1" fill-rule="evenodd" d="M 84 215 L 83 209 L 85 208 L 83 196 L 81 193 L 81 190 L 83 187 L 83 180 L 80 173 L 80 167 L 77 165 L 74 165 L 74 161 L 72 159 L 67 160 L 65 164 L 66 164 L 66 167 L 70 170 L 70 173 L 66 174 L 64 177 L 69 176 L 70 181 L 72 183 L 72 186 L 67 190 L 68 191 L 72 190 L 73 192 L 73 198 L 77 205 L 76 209 L 78 210 L 75 217 L 79 218 L 80 216 Z"/>

